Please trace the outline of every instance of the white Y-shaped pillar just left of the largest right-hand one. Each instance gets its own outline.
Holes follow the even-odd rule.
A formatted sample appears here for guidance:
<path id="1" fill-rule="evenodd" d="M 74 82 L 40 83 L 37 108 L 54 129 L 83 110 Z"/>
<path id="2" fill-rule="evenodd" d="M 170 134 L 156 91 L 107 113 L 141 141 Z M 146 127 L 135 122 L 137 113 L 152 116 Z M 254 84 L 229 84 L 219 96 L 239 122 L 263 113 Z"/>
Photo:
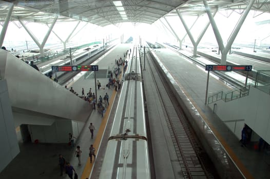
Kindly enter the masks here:
<path id="1" fill-rule="evenodd" d="M 182 24 L 183 24 L 185 30 L 186 30 L 186 33 L 187 33 L 188 37 L 190 38 L 190 40 L 191 40 L 191 42 L 192 42 L 192 44 L 193 44 L 193 56 L 197 56 L 197 48 L 198 48 L 198 44 L 200 43 L 200 41 L 201 41 L 203 35 L 205 34 L 207 28 L 209 27 L 210 21 L 205 25 L 204 29 L 201 31 L 200 35 L 198 36 L 197 41 L 195 41 L 194 37 L 192 36 L 192 34 L 191 34 L 191 32 L 190 32 L 190 29 L 192 28 L 192 26 L 194 26 L 195 23 L 191 26 L 190 29 L 188 29 L 188 27 L 187 27 L 187 25 L 186 25 L 186 23 L 185 23 L 185 20 L 184 20 L 184 18 L 182 17 L 182 15 L 180 14 L 179 10 L 176 10 L 176 12 L 177 12 L 177 14 L 178 14 L 178 16 L 179 16 L 179 18 L 180 18 L 180 20 L 181 20 L 181 22 L 182 22 Z M 214 16 L 216 15 L 216 13 L 217 13 L 217 10 L 214 12 Z M 197 20 L 198 20 L 198 18 L 196 19 L 196 21 L 197 21 Z M 195 21 L 195 22 L 196 22 L 196 21 Z"/>

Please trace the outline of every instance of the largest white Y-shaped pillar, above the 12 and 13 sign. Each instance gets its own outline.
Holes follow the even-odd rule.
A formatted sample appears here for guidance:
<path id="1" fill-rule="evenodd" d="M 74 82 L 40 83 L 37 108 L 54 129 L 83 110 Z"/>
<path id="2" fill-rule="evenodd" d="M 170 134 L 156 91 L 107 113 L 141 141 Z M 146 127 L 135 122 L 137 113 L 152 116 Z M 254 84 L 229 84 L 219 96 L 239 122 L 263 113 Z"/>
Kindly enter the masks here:
<path id="1" fill-rule="evenodd" d="M 218 45 L 219 45 L 219 49 L 220 49 L 220 52 L 221 52 L 220 64 L 223 64 L 223 65 L 226 64 L 227 53 L 228 53 L 229 49 L 232 47 L 232 44 L 233 44 L 233 42 L 234 42 L 240 28 L 242 27 L 248 12 L 252 8 L 254 2 L 255 2 L 255 0 L 250 0 L 249 1 L 249 4 L 247 5 L 247 7 L 246 7 L 244 13 L 242 14 L 242 16 L 240 17 L 235 29 L 233 30 L 232 34 L 230 35 L 229 39 L 227 40 L 226 47 L 224 47 L 221 35 L 219 33 L 219 30 L 218 30 L 218 27 L 217 27 L 216 22 L 214 20 L 214 17 L 212 16 L 212 14 L 210 12 L 210 8 L 208 6 L 208 3 L 207 3 L 206 0 L 203 0 L 203 4 L 205 6 L 206 13 L 207 13 L 208 18 L 210 20 L 211 26 L 213 28 L 213 31 L 214 31 L 214 34 L 216 36 L 216 39 L 217 39 L 217 42 L 218 42 Z"/>

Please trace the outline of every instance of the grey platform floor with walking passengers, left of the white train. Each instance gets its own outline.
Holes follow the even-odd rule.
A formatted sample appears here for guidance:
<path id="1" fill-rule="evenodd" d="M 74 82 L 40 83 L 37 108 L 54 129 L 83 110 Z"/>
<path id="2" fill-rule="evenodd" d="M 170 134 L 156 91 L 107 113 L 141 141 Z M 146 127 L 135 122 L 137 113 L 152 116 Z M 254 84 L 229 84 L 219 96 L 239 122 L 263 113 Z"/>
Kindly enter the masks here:
<path id="1" fill-rule="evenodd" d="M 107 69 L 108 66 L 114 66 L 115 58 L 120 58 L 123 56 L 123 52 L 129 49 L 131 44 L 120 44 L 115 47 L 111 51 L 108 52 L 107 55 L 101 57 L 96 65 L 99 65 L 99 69 Z M 118 54 L 118 55 L 115 55 Z M 123 58 L 123 57 L 122 57 Z M 20 145 L 21 152 L 15 157 L 15 159 L 0 173 L 1 179 L 10 179 L 10 178 L 59 178 L 60 177 L 60 166 L 59 166 L 59 154 L 62 154 L 67 162 L 69 162 L 75 169 L 76 173 L 78 173 L 79 178 L 81 178 L 84 169 L 89 167 L 89 147 L 91 144 L 94 144 L 96 151 L 99 146 L 95 142 L 97 137 L 102 138 L 102 134 L 105 125 L 102 124 L 104 119 L 108 118 L 110 113 L 111 105 L 113 104 L 113 93 L 115 91 L 113 88 L 108 89 L 106 84 L 108 82 L 108 78 L 99 78 L 97 79 L 101 82 L 101 88 L 97 89 L 97 96 L 100 95 L 104 97 L 107 93 L 109 95 L 109 106 L 106 110 L 104 117 L 98 113 L 97 110 L 93 110 L 89 119 L 85 124 L 81 124 L 82 127 L 80 136 L 75 136 L 75 147 L 70 149 L 68 146 L 69 136 L 67 133 L 67 142 L 64 144 L 53 144 L 53 143 L 23 143 L 21 139 L 21 131 L 20 128 L 17 128 L 17 136 Z M 74 91 L 77 92 L 80 96 L 82 95 L 82 87 L 84 87 L 85 95 L 88 93 L 90 87 L 92 88 L 92 92 L 95 93 L 95 85 L 94 78 L 84 78 L 84 74 L 74 77 L 68 82 L 68 87 L 73 87 Z M 64 87 L 64 86 L 63 86 Z M 70 95 L 74 95 L 70 93 Z M 67 97 L 68 98 L 68 97 Z M 59 104 L 65 105 L 65 104 Z M 95 126 L 94 136 L 91 139 L 91 133 L 88 129 L 90 123 L 93 123 Z M 102 125 L 101 125 L 102 124 Z M 61 130 L 61 126 L 57 129 Z M 98 139 L 100 140 L 100 139 Z M 82 150 L 81 155 L 81 166 L 79 166 L 78 159 L 75 157 L 75 149 L 76 146 L 79 145 Z M 97 153 L 96 153 L 97 154 Z M 87 171 L 85 176 L 89 176 L 89 170 Z M 87 176 L 87 177 L 88 177 Z M 63 178 L 69 178 L 67 175 L 62 176 Z"/>

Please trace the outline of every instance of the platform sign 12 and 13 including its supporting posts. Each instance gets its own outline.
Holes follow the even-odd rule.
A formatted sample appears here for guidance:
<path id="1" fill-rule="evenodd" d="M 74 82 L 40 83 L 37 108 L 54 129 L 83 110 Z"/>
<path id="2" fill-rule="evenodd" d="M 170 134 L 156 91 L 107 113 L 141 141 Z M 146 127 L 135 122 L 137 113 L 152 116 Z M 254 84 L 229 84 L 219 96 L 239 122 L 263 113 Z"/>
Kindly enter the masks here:
<path id="1" fill-rule="evenodd" d="M 207 73 L 207 82 L 206 82 L 206 94 L 205 94 L 205 104 L 207 104 L 207 93 L 208 93 L 208 83 L 209 83 L 209 72 L 210 71 L 246 71 L 246 81 L 245 85 L 247 84 L 247 77 L 248 72 L 252 71 L 252 65 L 219 65 L 219 64 L 206 64 L 205 70 L 208 71 Z"/>

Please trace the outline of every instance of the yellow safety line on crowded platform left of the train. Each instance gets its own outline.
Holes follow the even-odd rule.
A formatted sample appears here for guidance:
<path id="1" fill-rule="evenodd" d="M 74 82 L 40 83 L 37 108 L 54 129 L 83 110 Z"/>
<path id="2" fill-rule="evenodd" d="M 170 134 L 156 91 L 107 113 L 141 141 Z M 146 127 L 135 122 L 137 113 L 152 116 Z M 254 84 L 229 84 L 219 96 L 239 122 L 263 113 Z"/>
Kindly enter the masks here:
<path id="1" fill-rule="evenodd" d="M 122 67 L 122 72 L 123 72 L 123 67 Z M 122 79 L 122 74 L 123 73 L 121 73 L 120 76 L 119 76 L 120 80 Z M 123 84 L 121 83 L 121 85 L 123 85 Z M 93 143 L 93 147 L 95 149 L 97 149 L 96 154 L 98 153 L 98 149 L 99 149 L 99 146 L 100 146 L 100 143 L 101 143 L 103 132 L 105 130 L 105 127 L 106 127 L 106 124 L 107 124 L 107 121 L 108 121 L 108 117 L 109 117 L 109 114 L 110 114 L 110 111 L 111 111 L 111 106 L 112 106 L 113 100 L 114 100 L 114 98 L 116 96 L 116 91 L 114 89 L 112 89 L 112 90 L 113 90 L 113 92 L 112 92 L 112 95 L 111 95 L 111 98 L 110 98 L 110 101 L 109 101 L 110 105 L 108 105 L 108 108 L 106 109 L 106 112 L 105 112 L 105 114 L 103 116 L 103 119 L 102 119 L 102 122 L 100 124 L 99 131 L 97 133 L 97 137 L 95 138 L 94 143 Z M 92 163 L 90 163 L 90 158 L 88 157 L 86 165 L 84 167 L 84 171 L 83 171 L 82 176 L 81 176 L 81 179 L 85 179 L 85 178 L 90 176 L 93 164 L 94 164 L 94 160 L 92 161 Z"/>

